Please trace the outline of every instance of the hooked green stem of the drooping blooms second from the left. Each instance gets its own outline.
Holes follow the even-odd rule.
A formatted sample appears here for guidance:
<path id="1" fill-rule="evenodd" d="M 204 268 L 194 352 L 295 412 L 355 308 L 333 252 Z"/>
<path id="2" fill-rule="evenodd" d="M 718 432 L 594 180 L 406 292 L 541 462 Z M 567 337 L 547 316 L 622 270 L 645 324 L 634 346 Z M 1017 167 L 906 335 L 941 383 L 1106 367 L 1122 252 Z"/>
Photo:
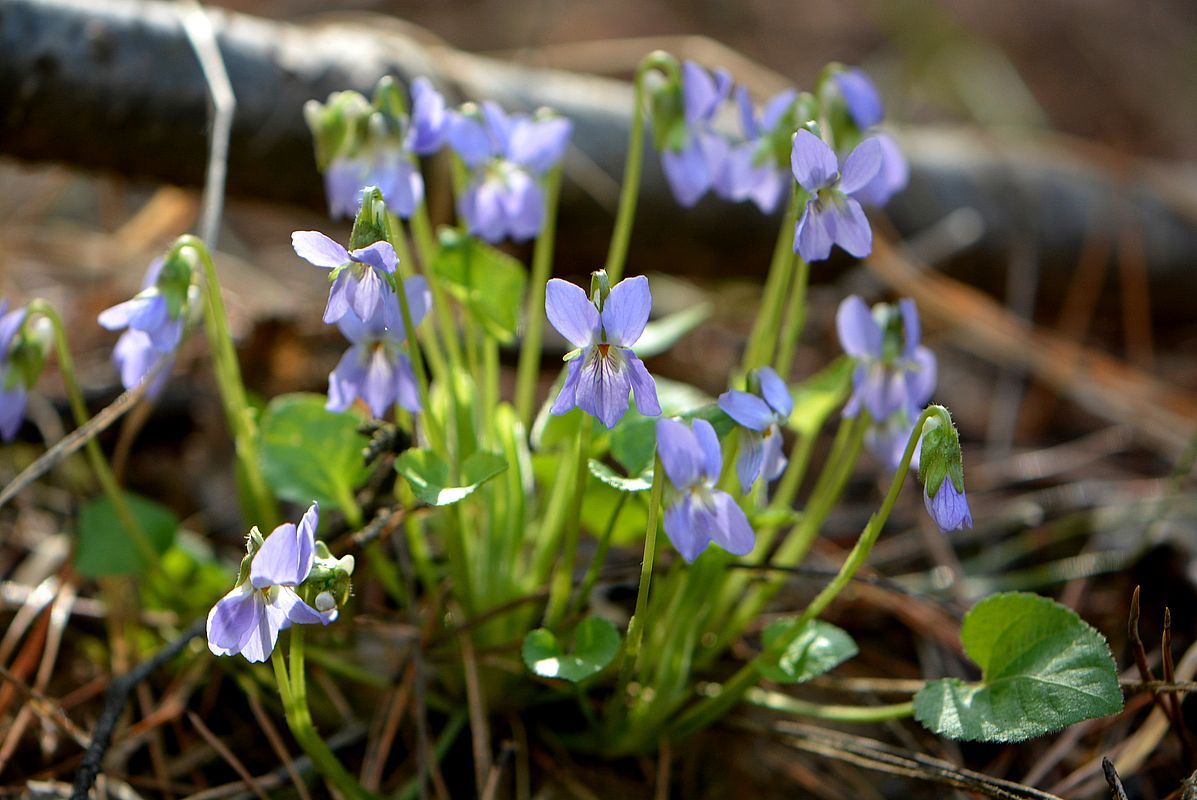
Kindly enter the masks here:
<path id="1" fill-rule="evenodd" d="M 225 418 L 232 432 L 237 453 L 237 463 L 249 492 L 249 504 L 242 511 L 247 521 L 271 531 L 279 522 L 279 509 L 274 496 L 262 477 L 261 462 L 257 457 L 257 423 L 255 413 L 245 399 L 245 384 L 241 378 L 241 366 L 237 363 L 237 350 L 229 331 L 229 315 L 225 313 L 224 298 L 220 296 L 220 279 L 217 275 L 212 255 L 202 240 L 195 236 L 181 236 L 175 242 L 175 249 L 188 248 L 200 259 L 203 267 L 203 329 L 208 337 L 212 351 L 212 368 L 220 388 L 220 400 L 224 402 Z"/>

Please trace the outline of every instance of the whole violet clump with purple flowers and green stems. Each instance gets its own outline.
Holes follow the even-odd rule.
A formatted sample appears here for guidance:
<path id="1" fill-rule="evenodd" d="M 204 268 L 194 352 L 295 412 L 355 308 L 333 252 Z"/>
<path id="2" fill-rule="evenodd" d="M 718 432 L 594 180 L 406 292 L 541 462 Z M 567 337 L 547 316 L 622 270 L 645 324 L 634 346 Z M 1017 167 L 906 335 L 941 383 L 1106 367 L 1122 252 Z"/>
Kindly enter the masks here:
<path id="1" fill-rule="evenodd" d="M 329 623 L 352 616 L 354 559 L 334 558 L 317 538 L 317 508 L 326 538 L 333 525 L 363 541 L 383 527 L 394 532 L 396 547 L 365 545 L 369 575 L 400 607 L 443 601 L 438 607 L 449 610 L 451 622 L 430 619 L 430 635 L 449 642 L 444 647 L 457 660 L 469 663 L 467 649 L 503 653 L 522 643 L 527 669 L 541 679 L 534 685 L 504 663 L 479 680 L 440 660 L 443 674 L 429 678 L 432 695 L 449 707 L 478 691 L 490 699 L 578 703 L 589 729 L 575 740 L 609 754 L 645 752 L 692 734 L 735 704 L 757 702 L 762 678 L 814 677 L 796 672 L 794 649 L 814 626 L 826 626 L 818 617 L 864 565 L 911 466 L 938 528 L 973 523 L 956 430 L 946 408 L 928 405 L 936 363 L 920 344 L 913 303 L 869 309 L 849 297 L 837 315 L 845 356 L 820 375 L 794 380 L 810 262 L 827 260 L 834 246 L 868 256 L 871 230 L 861 204 L 879 202 L 905 182 L 895 140 L 877 131 L 882 107 L 871 81 L 833 65 L 812 92 L 782 92 L 758 111 L 745 87 L 733 91 L 728 73 L 712 75 L 655 53 L 638 68 L 634 89 L 619 212 L 606 263 L 589 290 L 552 278 L 570 121 L 545 110 L 509 114 L 487 101 L 448 109 L 421 79 L 413 81 L 408 111 L 397 84 L 385 80 L 371 101 L 340 92 L 306 109 L 330 213 L 354 218 L 346 244 L 316 231 L 292 236 L 297 269 L 302 259 L 329 271 L 323 321 L 351 343 L 329 375 L 326 398 L 274 398 L 260 413 L 250 407 L 218 274 L 194 237 L 181 238 L 152 265 L 136 296 L 101 315 L 105 328 L 124 329 L 115 351 L 123 384 L 150 395 L 169 380 L 172 354 L 202 315 L 250 528 L 232 589 L 212 598 L 208 647 L 245 662 L 272 660 L 296 739 L 344 796 L 371 793 L 316 732 L 304 659 L 305 637 L 329 653 L 336 642 L 353 635 L 350 625 Z M 733 95 L 739 132 L 721 115 Z M 660 347 L 685 332 L 676 320 L 651 320 L 646 275 L 624 277 L 645 117 L 682 206 L 707 190 L 766 213 L 785 206 L 761 311 L 717 402 L 669 389 L 642 358 L 646 343 Z M 454 166 L 458 224 L 433 230 L 418 157 L 442 150 Z M 535 240 L 530 269 L 496 247 L 505 240 Z M 571 347 L 547 394 L 537 388 L 546 322 Z M 50 340 L 63 375 L 72 375 L 61 321 L 45 303 L 0 316 L 6 440 L 18 432 L 24 393 Z M 519 351 L 510 396 L 503 346 Z M 86 411 L 72 387 L 68 378 L 84 425 Z M 798 401 L 812 394 L 819 402 Z M 836 419 L 831 450 L 798 510 L 819 434 Z M 379 448 L 360 430 L 400 446 Z M 808 554 L 865 444 L 889 484 L 856 546 L 797 617 L 771 629 L 754 656 L 713 684 L 711 665 L 741 657 L 730 654 L 731 643 L 755 641 L 754 623 L 784 571 Z M 114 505 L 127 507 L 95 442 L 89 455 Z M 280 501 L 308 508 L 298 525 L 279 523 Z M 128 508 L 117 513 L 152 560 L 154 549 L 135 515 Z M 636 606 L 620 636 L 625 620 L 616 625 L 598 614 L 590 592 L 613 532 L 628 519 L 643 520 L 644 550 Z M 259 527 L 272 533 L 263 537 Z M 672 547 L 658 547 L 662 529 Z M 579 577 L 587 532 L 597 544 Z M 837 641 L 851 644 L 839 634 Z M 563 642 L 571 638 L 566 651 Z M 1057 643 L 1070 647 L 1067 638 Z M 841 656 L 851 653 L 845 647 Z M 1052 716 L 1044 709 L 1058 711 L 1058 698 L 1031 691 L 1026 713 L 1038 722 L 1027 727 L 1022 720 L 1019 732 L 1120 708 L 1107 653 L 1086 650 L 1086 657 L 1093 667 L 1088 683 L 1068 687 L 1096 701 Z M 225 666 L 236 665 L 230 659 Z M 978 697 L 1003 691 L 984 680 L 970 685 L 972 693 L 934 683 L 922 701 L 851 714 L 818 707 L 816 715 L 858 722 L 917 715 L 952 735 L 958 728 L 943 703 L 936 715 L 942 697 L 935 692 L 956 692 L 967 721 L 991 708 Z M 1003 719 L 992 725 L 998 733 L 991 738 L 1013 735 Z"/>

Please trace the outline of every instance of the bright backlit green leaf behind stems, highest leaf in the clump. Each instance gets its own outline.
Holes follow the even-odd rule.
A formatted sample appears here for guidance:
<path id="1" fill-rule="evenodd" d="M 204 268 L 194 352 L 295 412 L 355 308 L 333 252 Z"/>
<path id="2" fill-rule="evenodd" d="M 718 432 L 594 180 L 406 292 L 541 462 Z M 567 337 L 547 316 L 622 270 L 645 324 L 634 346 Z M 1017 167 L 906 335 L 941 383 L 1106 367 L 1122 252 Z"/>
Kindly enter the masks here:
<path id="1" fill-rule="evenodd" d="M 432 271 L 490 335 L 512 341 L 528 281 L 523 263 L 455 229 L 442 228 L 439 234 Z"/>

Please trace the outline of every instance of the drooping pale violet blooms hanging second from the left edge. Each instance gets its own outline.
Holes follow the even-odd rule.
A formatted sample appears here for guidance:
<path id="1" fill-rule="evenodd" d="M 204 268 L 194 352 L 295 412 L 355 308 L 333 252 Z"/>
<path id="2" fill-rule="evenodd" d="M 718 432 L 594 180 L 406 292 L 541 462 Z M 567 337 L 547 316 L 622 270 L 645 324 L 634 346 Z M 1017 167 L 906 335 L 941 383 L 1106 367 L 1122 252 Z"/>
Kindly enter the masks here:
<path id="1" fill-rule="evenodd" d="M 105 309 L 99 325 L 123 331 L 113 349 L 113 360 L 126 389 L 151 380 L 146 394 L 157 396 L 166 383 L 183 328 L 198 308 L 193 255 L 172 250 L 154 259 L 141 281 L 141 291 Z"/>

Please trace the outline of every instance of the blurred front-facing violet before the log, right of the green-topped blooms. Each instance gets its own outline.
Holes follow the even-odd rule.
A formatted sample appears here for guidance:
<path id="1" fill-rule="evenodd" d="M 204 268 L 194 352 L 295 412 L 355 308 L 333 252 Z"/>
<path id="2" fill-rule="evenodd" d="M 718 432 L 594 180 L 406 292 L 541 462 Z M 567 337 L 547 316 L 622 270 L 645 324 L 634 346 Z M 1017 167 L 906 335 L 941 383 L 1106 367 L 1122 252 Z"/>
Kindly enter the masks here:
<path id="1" fill-rule="evenodd" d="M 470 170 L 469 186 L 457 199 L 470 234 L 487 242 L 540 234 L 540 178 L 561 159 L 572 129 L 566 119 L 508 115 L 494 103 L 482 103 L 479 113 L 449 113 L 449 144 Z"/>

